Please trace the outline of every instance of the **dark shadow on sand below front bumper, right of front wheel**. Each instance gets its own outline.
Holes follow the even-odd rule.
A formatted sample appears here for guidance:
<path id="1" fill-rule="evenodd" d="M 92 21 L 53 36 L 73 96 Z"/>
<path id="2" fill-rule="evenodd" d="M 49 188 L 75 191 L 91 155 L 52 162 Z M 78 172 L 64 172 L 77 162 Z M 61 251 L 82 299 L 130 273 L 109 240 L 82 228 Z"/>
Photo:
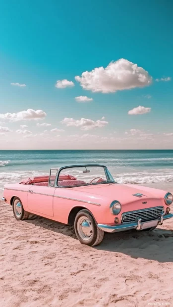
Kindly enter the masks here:
<path id="1" fill-rule="evenodd" d="M 96 249 L 122 253 L 133 258 L 173 262 L 173 230 L 157 228 L 153 231 L 105 233 L 103 242 Z"/>

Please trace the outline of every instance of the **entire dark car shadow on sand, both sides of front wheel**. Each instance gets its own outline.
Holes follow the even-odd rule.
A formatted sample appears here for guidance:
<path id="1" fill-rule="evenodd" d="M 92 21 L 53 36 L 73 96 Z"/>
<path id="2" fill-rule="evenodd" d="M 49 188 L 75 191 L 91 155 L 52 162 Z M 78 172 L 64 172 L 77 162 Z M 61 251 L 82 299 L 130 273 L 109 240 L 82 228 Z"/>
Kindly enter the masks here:
<path id="1" fill-rule="evenodd" d="M 73 226 L 39 216 L 25 221 L 77 240 Z M 102 243 L 91 248 L 121 253 L 133 258 L 173 262 L 173 230 L 164 229 L 163 225 L 154 231 L 129 230 L 113 234 L 105 233 Z"/>

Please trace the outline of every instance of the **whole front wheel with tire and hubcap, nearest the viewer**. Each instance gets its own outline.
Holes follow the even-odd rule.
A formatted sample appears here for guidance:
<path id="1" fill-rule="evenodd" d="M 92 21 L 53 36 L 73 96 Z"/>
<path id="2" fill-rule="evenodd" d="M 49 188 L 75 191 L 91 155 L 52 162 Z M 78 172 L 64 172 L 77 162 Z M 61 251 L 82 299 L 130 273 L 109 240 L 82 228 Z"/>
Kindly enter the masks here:
<path id="1" fill-rule="evenodd" d="M 104 237 L 104 231 L 97 227 L 91 213 L 85 209 L 76 214 L 74 229 L 80 243 L 85 245 L 99 245 Z"/>

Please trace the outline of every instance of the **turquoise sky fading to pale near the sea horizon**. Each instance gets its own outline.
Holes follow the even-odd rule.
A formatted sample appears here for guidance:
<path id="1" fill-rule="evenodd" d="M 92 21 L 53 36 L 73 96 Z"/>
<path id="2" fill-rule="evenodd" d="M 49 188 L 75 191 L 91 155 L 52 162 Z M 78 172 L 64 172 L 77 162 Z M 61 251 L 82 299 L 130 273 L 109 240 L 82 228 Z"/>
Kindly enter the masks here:
<path id="1" fill-rule="evenodd" d="M 129 68 L 113 63 L 109 78 L 119 59 Z M 148 84 L 126 79 L 133 64 Z M 0 1 L 0 149 L 173 149 L 172 78 L 172 1 Z M 64 79 L 73 86 L 57 88 Z M 128 114 L 138 106 L 146 113 Z M 27 109 L 42 113 L 16 115 Z"/>

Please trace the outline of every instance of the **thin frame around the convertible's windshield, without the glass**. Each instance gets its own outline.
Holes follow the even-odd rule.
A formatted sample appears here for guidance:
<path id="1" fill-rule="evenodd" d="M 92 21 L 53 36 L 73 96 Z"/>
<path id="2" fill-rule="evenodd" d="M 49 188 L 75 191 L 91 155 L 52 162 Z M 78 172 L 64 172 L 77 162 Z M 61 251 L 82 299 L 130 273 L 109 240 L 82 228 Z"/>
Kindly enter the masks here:
<path id="1" fill-rule="evenodd" d="M 116 183 L 115 180 L 114 180 L 114 178 L 113 178 L 113 176 L 112 176 L 111 173 L 109 172 L 107 166 L 105 166 L 105 165 L 102 165 L 102 164 L 77 164 L 77 165 L 63 166 L 63 167 L 60 167 L 60 168 L 58 169 L 57 178 L 56 178 L 56 180 L 55 180 L 55 188 L 62 188 L 62 189 L 65 188 L 65 189 L 66 189 L 66 188 L 74 188 L 74 187 L 79 187 L 79 186 L 82 187 L 82 185 L 58 186 L 59 174 L 60 174 L 60 172 L 61 172 L 63 169 L 66 169 L 66 168 L 74 168 L 74 167 L 76 167 L 76 168 L 77 168 L 77 167 L 92 167 L 92 166 L 94 166 L 94 167 L 103 167 L 103 168 L 104 168 L 105 175 L 106 175 L 107 180 L 108 180 L 107 184 L 108 184 L 108 183 Z M 99 183 L 98 183 L 98 184 L 99 184 Z M 90 185 L 90 184 L 88 184 L 88 185 Z M 83 187 L 85 187 L 85 186 L 87 186 L 87 185 L 83 185 Z"/>

